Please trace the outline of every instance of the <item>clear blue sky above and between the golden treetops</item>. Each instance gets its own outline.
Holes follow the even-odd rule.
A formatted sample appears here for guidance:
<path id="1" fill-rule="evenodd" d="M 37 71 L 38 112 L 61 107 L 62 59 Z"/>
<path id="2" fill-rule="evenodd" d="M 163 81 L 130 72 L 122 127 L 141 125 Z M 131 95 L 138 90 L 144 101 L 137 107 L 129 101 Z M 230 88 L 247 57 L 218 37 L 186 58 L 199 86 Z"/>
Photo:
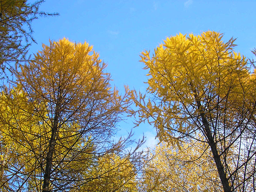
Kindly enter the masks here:
<path id="1" fill-rule="evenodd" d="M 36 53 L 49 39 L 86 41 L 108 63 L 106 71 L 121 92 L 124 85 L 145 90 L 147 71 L 139 62 L 140 52 L 153 51 L 166 37 L 177 33 L 224 33 L 226 41 L 237 38 L 237 52 L 252 58 L 250 50 L 256 47 L 255 7 L 256 1 L 246 0 L 46 0 L 40 10 L 58 12 L 60 16 L 39 18 L 32 23 L 38 44 L 30 47 L 30 53 Z M 131 119 L 121 122 L 118 134 L 125 135 L 124 130 L 133 126 Z M 157 143 L 155 129 L 148 124 L 133 131 L 137 138 L 144 132 L 147 146 Z"/>

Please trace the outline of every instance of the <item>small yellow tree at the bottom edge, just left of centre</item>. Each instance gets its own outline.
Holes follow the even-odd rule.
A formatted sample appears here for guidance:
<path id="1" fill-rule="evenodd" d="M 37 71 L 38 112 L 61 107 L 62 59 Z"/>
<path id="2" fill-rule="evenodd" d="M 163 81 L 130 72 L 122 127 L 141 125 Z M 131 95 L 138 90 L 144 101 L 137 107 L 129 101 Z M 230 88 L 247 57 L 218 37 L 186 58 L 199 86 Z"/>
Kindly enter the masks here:
<path id="1" fill-rule="evenodd" d="M 130 154 L 123 158 L 114 153 L 106 154 L 99 159 L 95 173 L 91 174 L 95 179 L 78 185 L 79 190 L 74 191 L 135 192 L 137 171 L 130 159 Z"/>

